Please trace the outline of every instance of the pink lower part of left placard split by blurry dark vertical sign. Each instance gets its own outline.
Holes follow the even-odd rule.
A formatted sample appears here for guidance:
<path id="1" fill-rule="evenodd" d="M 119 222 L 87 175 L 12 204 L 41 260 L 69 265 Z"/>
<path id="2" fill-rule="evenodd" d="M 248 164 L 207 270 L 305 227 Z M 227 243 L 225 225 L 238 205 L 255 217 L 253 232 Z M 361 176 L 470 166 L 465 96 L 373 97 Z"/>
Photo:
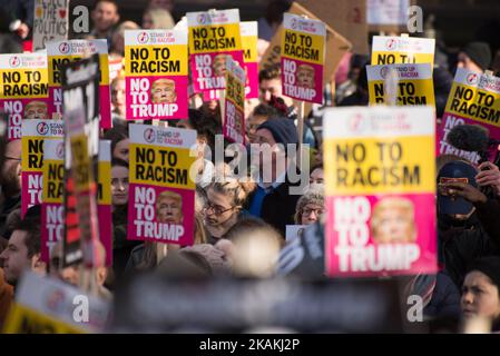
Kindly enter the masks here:
<path id="1" fill-rule="evenodd" d="M 41 205 L 41 260 L 49 263 L 49 248 L 47 243 L 49 241 L 49 230 L 47 229 L 47 212 L 48 207 L 58 208 L 62 204 L 51 204 L 43 202 Z M 62 212 L 63 214 L 63 212 Z M 112 265 L 112 230 L 111 230 L 111 206 L 110 205 L 98 205 L 97 214 L 99 217 L 99 240 L 106 250 L 106 266 Z M 60 226 L 63 226 L 60 224 Z"/>

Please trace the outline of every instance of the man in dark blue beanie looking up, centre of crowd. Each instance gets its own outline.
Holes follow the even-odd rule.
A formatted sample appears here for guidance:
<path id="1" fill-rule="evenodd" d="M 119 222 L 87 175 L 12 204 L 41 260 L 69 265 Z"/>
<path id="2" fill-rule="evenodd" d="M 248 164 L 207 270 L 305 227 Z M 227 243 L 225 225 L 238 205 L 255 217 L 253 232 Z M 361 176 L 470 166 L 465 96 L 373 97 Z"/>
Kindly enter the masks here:
<path id="1" fill-rule="evenodd" d="M 288 159 L 291 151 L 286 149 L 288 144 L 297 145 L 297 131 L 291 120 L 276 118 L 261 125 L 255 135 L 256 144 L 264 151 L 252 157 L 259 177 L 257 189 L 249 201 L 249 214 L 264 219 L 285 235 L 285 226 L 293 224 L 300 198 L 300 195 L 291 194 L 290 190 L 298 182 L 290 180 L 290 171 L 296 170 L 296 167 Z"/>

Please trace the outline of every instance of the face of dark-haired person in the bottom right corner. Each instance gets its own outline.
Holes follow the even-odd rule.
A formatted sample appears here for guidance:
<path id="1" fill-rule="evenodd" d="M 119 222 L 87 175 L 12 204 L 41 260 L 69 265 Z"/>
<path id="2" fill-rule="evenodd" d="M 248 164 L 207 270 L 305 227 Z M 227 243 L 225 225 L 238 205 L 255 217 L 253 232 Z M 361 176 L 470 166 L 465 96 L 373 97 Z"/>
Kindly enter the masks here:
<path id="1" fill-rule="evenodd" d="M 479 270 L 465 276 L 460 299 L 463 317 L 486 317 L 497 319 L 500 316 L 500 296 L 498 287 Z"/>

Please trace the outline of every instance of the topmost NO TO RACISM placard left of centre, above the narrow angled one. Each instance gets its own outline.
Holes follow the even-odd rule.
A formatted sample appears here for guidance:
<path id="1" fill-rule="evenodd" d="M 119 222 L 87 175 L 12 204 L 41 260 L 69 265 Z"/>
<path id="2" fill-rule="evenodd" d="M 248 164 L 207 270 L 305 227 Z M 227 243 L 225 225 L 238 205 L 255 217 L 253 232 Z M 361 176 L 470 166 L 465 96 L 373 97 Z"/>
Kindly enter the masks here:
<path id="1" fill-rule="evenodd" d="M 187 12 L 194 92 L 224 89 L 226 57 L 244 66 L 239 10 Z"/>

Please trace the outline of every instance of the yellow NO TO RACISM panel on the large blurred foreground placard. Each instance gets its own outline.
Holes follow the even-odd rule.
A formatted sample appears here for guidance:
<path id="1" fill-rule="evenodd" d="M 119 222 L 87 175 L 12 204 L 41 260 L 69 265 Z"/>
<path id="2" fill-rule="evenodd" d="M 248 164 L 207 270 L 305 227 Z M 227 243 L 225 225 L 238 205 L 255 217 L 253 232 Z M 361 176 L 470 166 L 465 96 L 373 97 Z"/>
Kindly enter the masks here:
<path id="1" fill-rule="evenodd" d="M 392 162 L 389 156 L 389 145 L 383 149 L 384 161 L 380 158 L 380 149 L 376 144 L 399 142 L 402 147 L 401 160 L 395 164 Z M 336 147 L 345 148 L 349 145 L 351 148 L 355 144 L 363 144 L 365 147 L 365 158 L 360 164 L 351 158 L 346 162 L 343 157 L 336 155 Z M 376 194 L 412 194 L 412 192 L 434 192 L 435 191 L 435 175 L 434 175 L 434 138 L 429 136 L 403 137 L 399 139 L 391 138 L 349 138 L 349 139 L 326 139 L 324 142 L 324 162 L 325 162 L 325 192 L 329 196 L 336 195 L 376 195 Z M 360 156 L 356 156 L 360 157 Z M 420 184 L 400 184 L 398 186 L 391 185 L 354 185 L 350 187 L 340 186 L 336 180 L 336 170 L 346 169 L 347 177 L 353 177 L 356 168 L 361 168 L 363 176 L 371 167 L 379 169 L 390 167 L 408 166 L 412 168 L 418 165 L 420 167 Z M 376 175 L 376 178 L 380 174 Z M 351 179 L 347 179 L 351 181 Z"/>

